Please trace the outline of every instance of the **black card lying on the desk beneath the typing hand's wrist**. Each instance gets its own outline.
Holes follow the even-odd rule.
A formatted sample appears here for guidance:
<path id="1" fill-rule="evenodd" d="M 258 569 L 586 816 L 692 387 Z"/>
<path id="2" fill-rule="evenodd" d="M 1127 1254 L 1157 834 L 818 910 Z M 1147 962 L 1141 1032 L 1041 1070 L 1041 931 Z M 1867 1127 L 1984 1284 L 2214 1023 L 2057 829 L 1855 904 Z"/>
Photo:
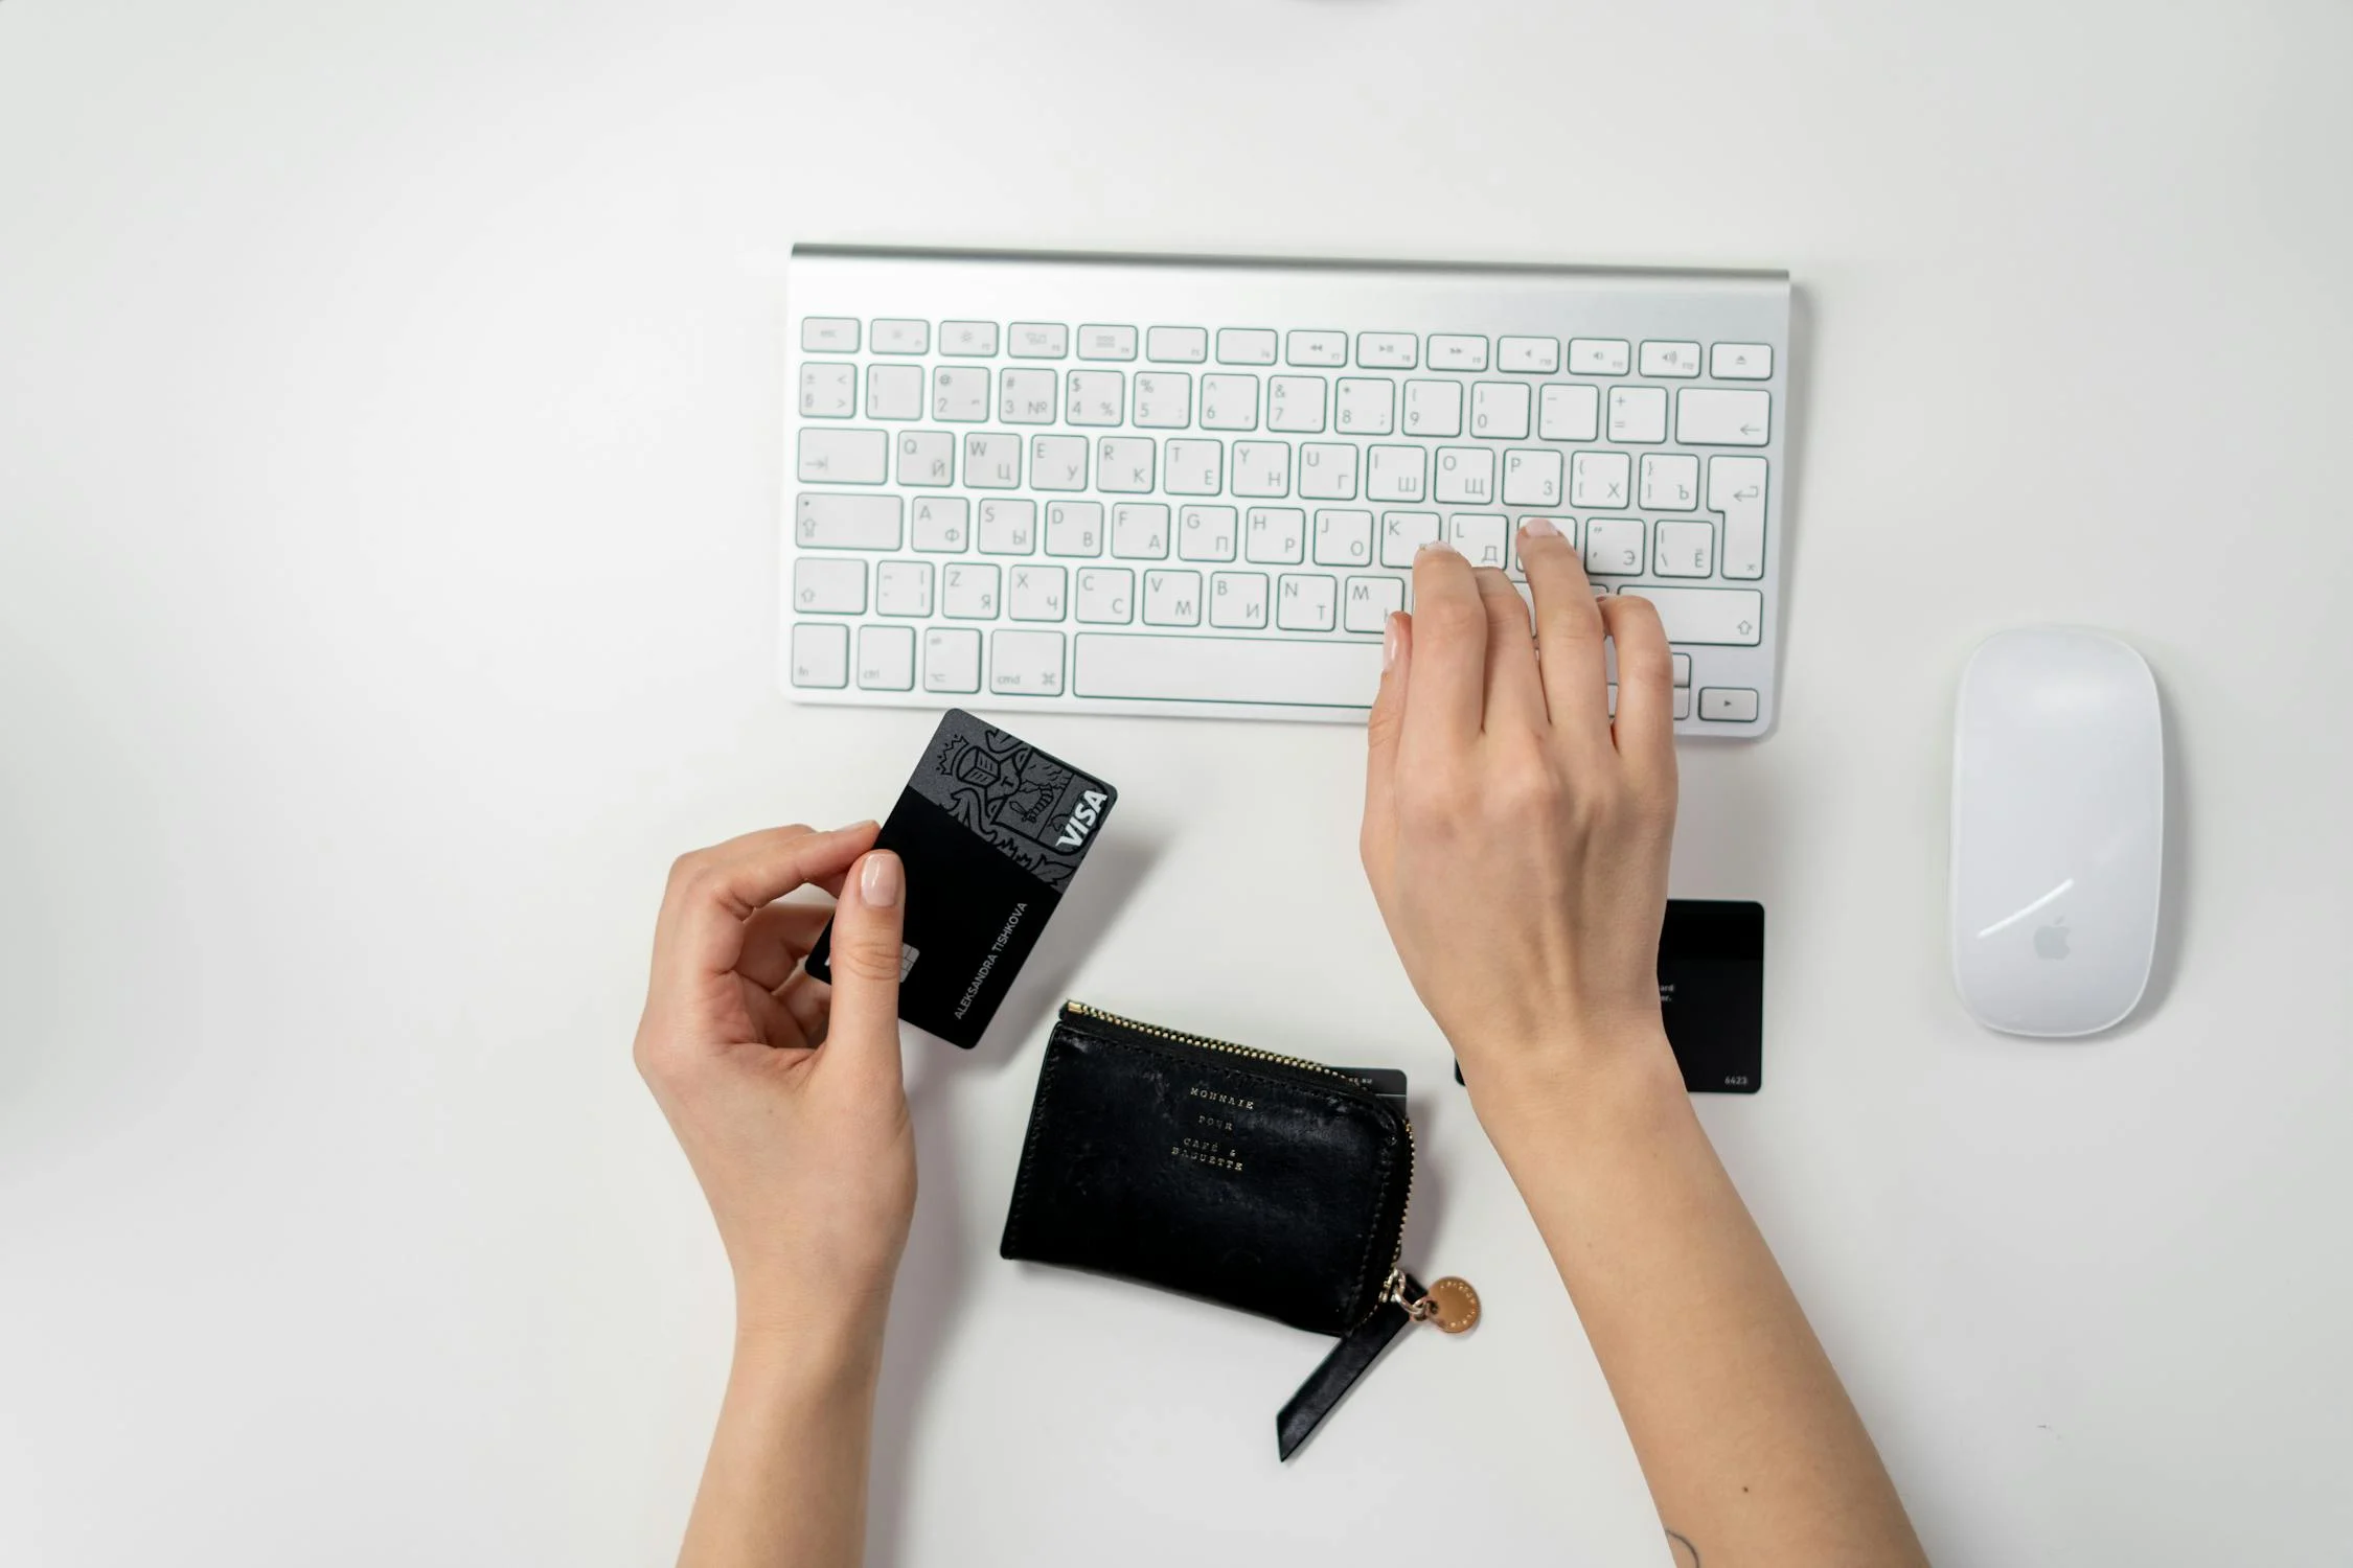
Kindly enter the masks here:
<path id="1" fill-rule="evenodd" d="M 1659 1016 L 1685 1091 L 1753 1095 L 1765 1086 L 1765 905 L 1666 900 Z M 1461 1065 L 1454 1081 L 1464 1081 Z"/>

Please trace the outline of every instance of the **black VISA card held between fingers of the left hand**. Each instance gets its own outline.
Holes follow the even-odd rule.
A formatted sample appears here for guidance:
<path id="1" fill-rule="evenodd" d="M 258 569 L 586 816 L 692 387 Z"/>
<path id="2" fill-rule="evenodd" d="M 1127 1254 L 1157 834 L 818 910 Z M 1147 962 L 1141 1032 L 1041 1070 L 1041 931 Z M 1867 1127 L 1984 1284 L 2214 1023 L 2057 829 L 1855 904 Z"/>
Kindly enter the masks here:
<path id="1" fill-rule="evenodd" d="M 1120 792 L 951 708 L 875 849 L 906 863 L 899 1018 L 972 1048 Z M 833 924 L 807 971 L 831 980 Z"/>

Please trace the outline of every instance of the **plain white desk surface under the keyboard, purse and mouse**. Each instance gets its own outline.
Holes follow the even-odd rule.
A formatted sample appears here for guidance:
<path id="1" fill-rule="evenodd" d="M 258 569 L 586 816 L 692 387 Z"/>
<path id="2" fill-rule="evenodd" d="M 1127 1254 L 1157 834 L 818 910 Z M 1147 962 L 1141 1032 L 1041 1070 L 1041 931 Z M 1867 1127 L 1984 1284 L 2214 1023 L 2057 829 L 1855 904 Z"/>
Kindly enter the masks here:
<path id="1" fill-rule="evenodd" d="M 727 1354 L 628 1065 L 668 858 L 880 813 L 772 689 L 793 240 L 1786 266 L 1786 710 L 1675 891 L 1769 910 L 1701 1114 L 1941 1563 L 2353 1537 L 2353 12 L 0 7 L 0 1561 L 654 1563 Z M 1958 1011 L 1946 729 L 2113 628 L 2165 969 Z M 911 1053 L 875 1563 L 1664 1563 L 1381 938 L 1348 729 L 1035 717 L 1118 832 Z M 1478 1281 L 1322 1340 L 995 1258 L 1049 1001 L 1414 1077 Z M 1727 1479 L 1729 1481 L 1729 1479 Z"/>

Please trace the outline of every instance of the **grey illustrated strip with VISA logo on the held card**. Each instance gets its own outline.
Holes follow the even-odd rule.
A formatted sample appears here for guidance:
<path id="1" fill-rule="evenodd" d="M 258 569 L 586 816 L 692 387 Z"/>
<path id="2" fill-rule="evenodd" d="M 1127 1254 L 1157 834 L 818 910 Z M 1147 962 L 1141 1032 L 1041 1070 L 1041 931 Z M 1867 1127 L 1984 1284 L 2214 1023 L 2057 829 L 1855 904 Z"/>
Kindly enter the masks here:
<path id="1" fill-rule="evenodd" d="M 1104 783 L 962 710 L 941 719 L 908 788 L 1054 891 L 1071 884 L 1111 802 Z"/>

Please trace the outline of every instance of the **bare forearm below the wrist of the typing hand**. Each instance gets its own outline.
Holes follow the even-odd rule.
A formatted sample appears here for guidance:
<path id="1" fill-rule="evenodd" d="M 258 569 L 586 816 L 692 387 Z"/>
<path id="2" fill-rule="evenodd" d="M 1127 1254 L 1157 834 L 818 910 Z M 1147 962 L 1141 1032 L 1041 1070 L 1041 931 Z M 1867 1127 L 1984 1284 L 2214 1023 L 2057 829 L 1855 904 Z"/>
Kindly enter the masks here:
<path id="1" fill-rule="evenodd" d="M 1480 1117 L 1553 1253 L 1659 1519 L 1708 1568 L 1922 1563 L 1904 1505 L 1692 1114 L 1666 1041 Z"/>

